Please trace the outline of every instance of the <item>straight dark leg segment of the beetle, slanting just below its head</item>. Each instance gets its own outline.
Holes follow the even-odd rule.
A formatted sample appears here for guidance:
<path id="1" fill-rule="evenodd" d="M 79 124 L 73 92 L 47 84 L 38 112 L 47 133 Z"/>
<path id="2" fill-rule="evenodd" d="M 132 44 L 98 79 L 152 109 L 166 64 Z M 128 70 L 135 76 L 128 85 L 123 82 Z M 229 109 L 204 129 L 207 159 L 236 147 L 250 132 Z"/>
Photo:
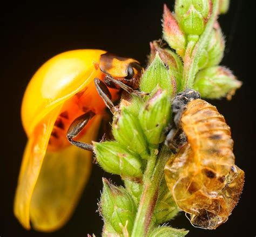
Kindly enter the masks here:
<path id="1" fill-rule="evenodd" d="M 99 96 L 102 97 L 105 105 L 110 109 L 110 111 L 114 114 L 117 112 L 117 108 L 114 106 L 113 102 L 111 101 L 111 93 L 107 86 L 99 80 L 99 78 L 94 79 L 96 89 L 99 93 Z"/>

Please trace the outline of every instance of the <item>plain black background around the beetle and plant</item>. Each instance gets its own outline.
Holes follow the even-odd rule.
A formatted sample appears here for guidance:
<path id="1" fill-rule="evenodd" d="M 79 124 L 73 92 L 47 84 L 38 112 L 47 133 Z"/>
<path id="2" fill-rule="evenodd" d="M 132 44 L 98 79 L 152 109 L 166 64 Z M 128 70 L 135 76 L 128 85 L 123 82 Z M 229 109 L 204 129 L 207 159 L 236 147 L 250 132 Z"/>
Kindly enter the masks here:
<path id="1" fill-rule="evenodd" d="M 221 64 L 230 67 L 244 83 L 232 101 L 211 101 L 224 114 L 231 126 L 237 165 L 245 171 L 244 192 L 228 221 L 215 231 L 194 228 L 184 213 L 171 222 L 173 227 L 190 230 L 188 236 L 255 236 L 251 226 L 252 186 L 252 91 L 253 71 L 250 56 L 255 55 L 254 1 L 231 1 L 227 15 L 220 16 L 227 48 Z M 21 125 L 22 96 L 39 66 L 60 52 L 96 48 L 120 56 L 138 59 L 146 65 L 149 42 L 161 37 L 163 4 L 172 8 L 174 1 L 78 3 L 26 2 L 2 6 L 1 25 L 4 39 L 1 53 L 2 156 L 1 221 L 2 236 L 100 236 L 102 220 L 95 213 L 96 200 L 102 188 L 101 177 L 110 177 L 98 166 L 93 167 L 91 180 L 71 220 L 55 233 L 25 231 L 12 213 L 12 204 L 23 148 L 26 143 Z M 255 67 L 255 66 L 254 66 Z M 117 178 L 113 178 L 118 184 Z M 255 179 L 254 179 L 255 180 Z M 4 191 L 3 191 L 4 190 Z"/>

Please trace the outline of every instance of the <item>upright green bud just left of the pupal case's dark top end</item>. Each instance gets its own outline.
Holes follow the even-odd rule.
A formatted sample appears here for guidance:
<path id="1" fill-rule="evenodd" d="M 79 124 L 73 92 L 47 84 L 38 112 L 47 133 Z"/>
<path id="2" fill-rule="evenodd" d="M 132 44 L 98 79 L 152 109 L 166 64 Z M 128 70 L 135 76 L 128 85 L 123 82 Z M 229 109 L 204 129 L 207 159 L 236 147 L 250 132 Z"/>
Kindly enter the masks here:
<path id="1" fill-rule="evenodd" d="M 171 103 L 166 91 L 158 90 L 139 114 L 140 125 L 149 144 L 164 141 L 164 128 L 171 118 Z"/>

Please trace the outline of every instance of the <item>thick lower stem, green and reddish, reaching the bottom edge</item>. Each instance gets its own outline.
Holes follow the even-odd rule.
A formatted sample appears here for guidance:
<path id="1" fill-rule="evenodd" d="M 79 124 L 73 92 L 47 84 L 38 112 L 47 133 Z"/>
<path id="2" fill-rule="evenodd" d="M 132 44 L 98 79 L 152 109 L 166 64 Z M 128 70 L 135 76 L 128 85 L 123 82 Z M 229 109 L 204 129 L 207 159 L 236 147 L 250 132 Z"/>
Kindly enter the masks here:
<path id="1" fill-rule="evenodd" d="M 170 152 L 165 148 L 160 152 L 156 164 L 156 155 L 147 162 L 147 168 L 144 173 L 144 183 L 142 196 L 140 198 L 139 208 L 134 221 L 131 237 L 146 237 L 149 231 L 154 207 L 158 198 L 160 181 L 164 175 L 164 166 L 170 158 Z M 156 164 L 156 165 L 153 165 Z"/>

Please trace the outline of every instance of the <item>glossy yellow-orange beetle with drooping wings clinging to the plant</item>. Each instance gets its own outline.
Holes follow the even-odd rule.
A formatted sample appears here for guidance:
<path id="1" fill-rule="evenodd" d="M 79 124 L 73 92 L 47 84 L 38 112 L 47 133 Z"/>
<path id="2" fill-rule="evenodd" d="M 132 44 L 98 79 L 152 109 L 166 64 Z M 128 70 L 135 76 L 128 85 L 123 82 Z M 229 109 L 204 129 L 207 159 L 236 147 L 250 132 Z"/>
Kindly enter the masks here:
<path id="1" fill-rule="evenodd" d="M 51 58 L 32 77 L 22 102 L 28 143 L 14 203 L 26 229 L 31 221 L 39 231 L 54 231 L 69 219 L 89 178 L 89 143 L 105 106 L 114 112 L 120 89 L 139 94 L 133 89 L 141 71 L 134 59 L 73 50 Z"/>

